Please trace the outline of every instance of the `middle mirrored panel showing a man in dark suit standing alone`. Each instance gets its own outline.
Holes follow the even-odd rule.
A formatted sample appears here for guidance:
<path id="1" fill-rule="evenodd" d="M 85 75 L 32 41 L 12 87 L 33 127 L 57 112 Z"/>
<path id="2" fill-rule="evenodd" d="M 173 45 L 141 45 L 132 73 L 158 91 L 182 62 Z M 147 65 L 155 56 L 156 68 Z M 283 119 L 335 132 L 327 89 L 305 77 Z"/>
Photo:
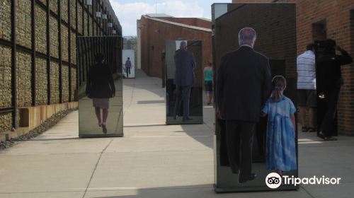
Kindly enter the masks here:
<path id="1" fill-rule="evenodd" d="M 202 42 L 166 41 L 166 124 L 202 124 Z"/>

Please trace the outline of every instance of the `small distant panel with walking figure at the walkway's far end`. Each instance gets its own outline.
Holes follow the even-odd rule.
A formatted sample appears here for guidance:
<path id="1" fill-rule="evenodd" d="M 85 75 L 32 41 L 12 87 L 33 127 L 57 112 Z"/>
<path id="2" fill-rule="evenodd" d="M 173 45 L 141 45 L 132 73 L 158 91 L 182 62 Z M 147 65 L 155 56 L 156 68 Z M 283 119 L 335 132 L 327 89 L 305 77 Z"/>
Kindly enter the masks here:
<path id="1" fill-rule="evenodd" d="M 135 78 L 135 51 L 122 51 L 122 74 L 124 78 Z"/>

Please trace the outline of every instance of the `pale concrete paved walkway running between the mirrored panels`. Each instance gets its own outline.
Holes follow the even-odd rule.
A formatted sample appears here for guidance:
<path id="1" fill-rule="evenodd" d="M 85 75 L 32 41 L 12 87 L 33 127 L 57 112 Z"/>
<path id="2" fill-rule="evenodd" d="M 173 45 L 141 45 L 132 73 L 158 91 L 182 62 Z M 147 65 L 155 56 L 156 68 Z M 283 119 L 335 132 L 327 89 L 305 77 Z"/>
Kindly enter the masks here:
<path id="1" fill-rule="evenodd" d="M 299 174 L 342 184 L 298 191 L 215 194 L 212 109 L 205 124 L 164 125 L 158 78 L 124 81 L 124 138 L 79 139 L 72 112 L 38 138 L 0 151 L 0 197 L 353 197 L 354 138 L 300 134 Z"/>

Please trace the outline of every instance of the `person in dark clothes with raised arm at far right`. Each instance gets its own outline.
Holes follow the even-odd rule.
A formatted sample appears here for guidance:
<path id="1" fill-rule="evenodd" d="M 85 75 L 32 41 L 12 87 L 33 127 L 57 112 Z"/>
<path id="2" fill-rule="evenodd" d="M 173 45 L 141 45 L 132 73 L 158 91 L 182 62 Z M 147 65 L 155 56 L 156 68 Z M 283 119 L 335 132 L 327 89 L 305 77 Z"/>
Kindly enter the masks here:
<path id="1" fill-rule="evenodd" d="M 317 92 L 324 97 L 326 101 L 326 112 L 322 120 L 319 136 L 324 140 L 336 140 L 331 136 L 333 131 L 339 92 L 343 84 L 341 74 L 341 66 L 350 64 L 353 59 L 346 50 L 336 45 L 335 40 L 326 40 L 326 50 L 324 54 L 317 57 L 316 67 L 319 70 L 319 85 Z M 336 50 L 341 52 L 341 55 L 336 55 Z"/>

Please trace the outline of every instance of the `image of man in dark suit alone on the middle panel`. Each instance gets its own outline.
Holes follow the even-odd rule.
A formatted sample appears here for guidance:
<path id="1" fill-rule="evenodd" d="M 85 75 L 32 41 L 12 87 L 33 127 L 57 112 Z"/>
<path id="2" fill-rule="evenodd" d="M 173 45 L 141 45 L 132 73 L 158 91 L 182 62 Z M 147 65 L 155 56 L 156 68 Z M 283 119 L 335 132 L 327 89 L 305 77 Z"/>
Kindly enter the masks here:
<path id="1" fill-rule="evenodd" d="M 181 42 L 180 50 L 173 56 L 173 60 L 176 68 L 173 79 L 173 83 L 176 85 L 173 119 L 176 120 L 181 101 L 183 101 L 183 121 L 189 121 L 192 120 L 189 117 L 189 98 L 190 88 L 195 83 L 195 59 L 193 53 L 187 51 L 187 43 L 185 41 Z"/>

